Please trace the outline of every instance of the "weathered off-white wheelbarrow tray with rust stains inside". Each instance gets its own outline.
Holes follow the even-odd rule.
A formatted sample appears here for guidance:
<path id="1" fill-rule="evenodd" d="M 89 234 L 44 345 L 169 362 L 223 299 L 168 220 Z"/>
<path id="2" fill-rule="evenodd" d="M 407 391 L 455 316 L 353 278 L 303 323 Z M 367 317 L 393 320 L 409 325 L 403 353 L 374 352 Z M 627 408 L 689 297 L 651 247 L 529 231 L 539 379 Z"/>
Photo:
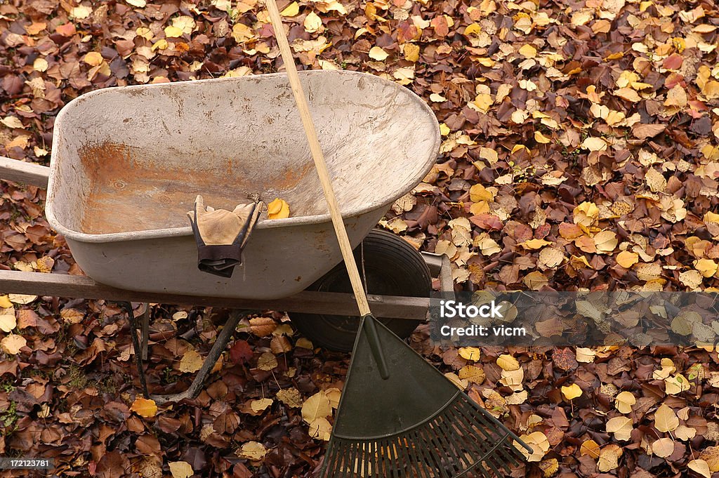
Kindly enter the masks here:
<path id="1" fill-rule="evenodd" d="M 365 73 L 301 73 L 356 246 L 434 164 L 439 130 L 406 88 Z M 94 280 L 150 293 L 269 300 L 342 261 L 284 74 L 93 91 L 58 115 L 46 215 Z M 201 194 L 290 204 L 260 220 L 230 279 L 200 272 L 186 211 Z"/>

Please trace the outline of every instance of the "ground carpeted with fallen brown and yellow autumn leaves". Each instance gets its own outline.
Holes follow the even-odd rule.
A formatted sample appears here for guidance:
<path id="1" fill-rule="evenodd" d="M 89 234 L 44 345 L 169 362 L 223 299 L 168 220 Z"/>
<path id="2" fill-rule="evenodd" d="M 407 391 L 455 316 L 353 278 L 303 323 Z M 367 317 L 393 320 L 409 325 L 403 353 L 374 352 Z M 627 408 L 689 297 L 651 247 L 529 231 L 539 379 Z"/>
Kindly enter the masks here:
<path id="1" fill-rule="evenodd" d="M 458 288 L 719 285 L 713 2 L 280 8 L 305 68 L 380 75 L 435 111 L 437 165 L 383 225 L 449 254 Z M 280 65 L 256 0 L 3 2 L 0 154 L 47 164 L 55 115 L 96 88 Z M 81 273 L 42 215 L 45 192 L 1 188 L 0 267 Z M 175 478 L 304 477 L 321 459 L 348 356 L 313 349 L 282 313 L 244 323 L 197 400 L 155 410 L 137 400 L 116 305 L 0 302 L 2 456 L 55 457 L 65 476 Z M 153 391 L 188 385 L 226 314 L 152 306 Z M 477 351 L 426 337 L 411 343 L 532 444 L 516 477 L 719 472 L 715 351 Z"/>

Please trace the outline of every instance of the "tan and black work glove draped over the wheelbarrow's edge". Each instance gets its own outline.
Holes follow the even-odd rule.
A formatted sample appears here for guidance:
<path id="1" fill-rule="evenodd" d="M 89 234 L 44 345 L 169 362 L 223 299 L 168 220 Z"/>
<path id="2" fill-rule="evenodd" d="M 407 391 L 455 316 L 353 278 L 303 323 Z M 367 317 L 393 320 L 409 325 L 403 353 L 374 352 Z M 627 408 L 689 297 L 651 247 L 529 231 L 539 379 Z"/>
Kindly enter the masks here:
<path id="1" fill-rule="evenodd" d="M 232 277 L 234 266 L 242 264 L 242 249 L 262 211 L 262 203 L 239 204 L 234 211 L 205 206 L 202 196 L 187 215 L 197 241 L 197 267 L 203 272 Z"/>

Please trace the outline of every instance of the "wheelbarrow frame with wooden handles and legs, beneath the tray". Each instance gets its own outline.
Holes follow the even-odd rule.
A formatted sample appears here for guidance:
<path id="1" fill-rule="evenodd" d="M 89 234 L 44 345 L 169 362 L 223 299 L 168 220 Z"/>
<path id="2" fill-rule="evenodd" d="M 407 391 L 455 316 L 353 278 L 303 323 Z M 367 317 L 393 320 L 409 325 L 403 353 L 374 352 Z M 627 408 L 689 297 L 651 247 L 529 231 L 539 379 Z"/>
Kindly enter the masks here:
<path id="1" fill-rule="evenodd" d="M 47 188 L 50 168 L 35 163 L 0 157 L 0 178 L 16 183 Z M 452 270 L 446 255 L 422 252 L 422 258 L 429 266 L 433 277 L 439 277 L 441 290 L 453 290 Z M 350 293 L 316 292 L 303 290 L 287 298 L 257 300 L 242 298 L 213 297 L 204 295 L 183 295 L 153 293 L 113 288 L 96 282 L 88 276 L 44 274 L 0 270 L 0 291 L 29 295 L 51 295 L 65 298 L 104 299 L 120 303 L 143 302 L 175 305 L 203 305 L 235 309 L 229 321 L 213 344 L 203 366 L 196 374 L 192 385 L 185 392 L 175 395 L 155 396 L 158 403 L 179 401 L 195 397 L 202 389 L 219 356 L 232 339 L 237 323 L 244 313 L 257 311 L 286 311 L 326 315 L 358 316 L 357 303 Z M 403 297 L 397 295 L 368 295 L 372 311 L 378 318 L 400 318 L 411 321 L 425 321 L 429 311 L 429 298 Z M 244 312 L 244 313 L 243 313 Z M 147 359 L 147 316 L 143 317 L 142 342 L 143 359 Z M 142 373 L 142 372 L 140 372 Z"/>

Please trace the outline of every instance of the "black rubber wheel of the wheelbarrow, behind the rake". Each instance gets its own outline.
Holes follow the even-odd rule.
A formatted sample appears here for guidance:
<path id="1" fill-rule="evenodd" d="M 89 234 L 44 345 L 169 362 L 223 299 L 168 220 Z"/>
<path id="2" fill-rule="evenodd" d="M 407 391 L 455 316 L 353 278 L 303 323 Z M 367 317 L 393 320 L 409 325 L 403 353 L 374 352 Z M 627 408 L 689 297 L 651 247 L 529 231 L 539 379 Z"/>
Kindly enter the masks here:
<path id="1" fill-rule="evenodd" d="M 367 293 L 406 297 L 429 296 L 432 288 L 429 267 L 422 254 L 404 239 L 390 232 L 374 229 L 362 242 L 362 247 L 354 249 L 354 258 L 357 260 L 360 274 L 362 274 L 362 255 L 364 255 Z M 344 262 L 327 272 L 307 290 L 351 293 L 352 286 Z M 359 327 L 359 317 L 356 316 L 292 313 L 290 319 L 298 331 L 314 345 L 336 351 L 352 350 Z M 418 326 L 417 321 L 401 318 L 378 320 L 402 339 L 410 336 Z"/>

